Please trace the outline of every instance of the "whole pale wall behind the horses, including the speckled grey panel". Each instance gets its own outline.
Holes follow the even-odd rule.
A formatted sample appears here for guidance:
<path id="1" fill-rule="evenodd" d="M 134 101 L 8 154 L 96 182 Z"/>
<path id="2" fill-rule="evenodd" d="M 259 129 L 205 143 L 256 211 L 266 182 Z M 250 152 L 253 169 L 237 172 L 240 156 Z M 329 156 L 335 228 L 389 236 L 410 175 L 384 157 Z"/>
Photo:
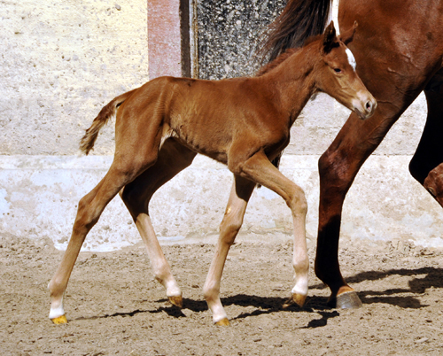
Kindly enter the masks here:
<path id="1" fill-rule="evenodd" d="M 207 4 L 197 3 L 202 21 L 200 75 L 234 76 L 256 66 L 248 66 L 252 48 L 245 43 L 256 43 L 255 35 L 262 31 L 264 23 L 257 16 L 261 19 L 266 13 L 271 19 L 276 15 L 272 9 L 281 4 L 225 2 L 220 5 L 225 7 L 214 10 L 216 19 L 208 15 Z M 113 125 L 105 128 L 89 157 L 76 156 L 78 141 L 104 104 L 148 80 L 146 2 L 25 0 L 2 6 L 0 238 L 49 237 L 64 248 L 78 200 L 103 177 L 113 159 Z M 242 16 L 246 10 L 247 16 Z M 214 27 L 215 32 L 205 25 L 217 20 L 222 27 Z M 214 39 L 223 28 L 230 36 L 226 46 Z M 237 47 L 232 45 L 235 38 Z M 317 97 L 292 128 L 282 161 L 284 174 L 307 193 L 310 246 L 318 219 L 317 160 L 347 115 L 330 97 Z M 346 199 L 342 238 L 400 238 L 443 246 L 441 208 L 408 174 L 425 115 L 422 96 L 362 167 Z M 214 242 L 230 184 L 231 174 L 224 166 L 198 157 L 152 199 L 159 238 L 165 243 Z M 264 188 L 255 191 L 240 238 L 291 238 L 291 214 L 283 200 Z M 89 234 L 85 249 L 112 250 L 138 241 L 135 225 L 116 197 Z"/>

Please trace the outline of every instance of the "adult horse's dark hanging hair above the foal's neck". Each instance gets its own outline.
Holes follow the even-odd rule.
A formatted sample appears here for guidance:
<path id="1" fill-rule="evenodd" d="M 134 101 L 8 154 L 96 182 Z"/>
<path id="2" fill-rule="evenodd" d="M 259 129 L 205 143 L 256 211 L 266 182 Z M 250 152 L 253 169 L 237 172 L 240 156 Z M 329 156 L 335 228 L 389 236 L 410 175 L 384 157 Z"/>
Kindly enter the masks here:
<path id="1" fill-rule="evenodd" d="M 288 0 L 260 44 L 262 62 L 274 60 L 284 50 L 302 47 L 308 37 L 323 34 L 330 17 L 331 0 Z"/>

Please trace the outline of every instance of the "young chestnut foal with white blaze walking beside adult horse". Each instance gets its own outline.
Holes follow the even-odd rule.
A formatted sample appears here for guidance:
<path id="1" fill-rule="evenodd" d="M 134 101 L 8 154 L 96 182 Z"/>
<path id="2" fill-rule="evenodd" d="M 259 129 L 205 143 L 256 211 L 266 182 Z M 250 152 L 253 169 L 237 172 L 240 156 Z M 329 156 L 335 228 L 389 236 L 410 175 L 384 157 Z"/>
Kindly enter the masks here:
<path id="1" fill-rule="evenodd" d="M 351 39 L 352 35 L 347 41 Z M 49 284 L 51 320 L 66 322 L 63 295 L 75 260 L 90 228 L 119 192 L 146 244 L 155 277 L 166 288 L 171 303 L 182 306 L 182 291 L 155 236 L 148 205 L 152 194 L 190 166 L 197 153 L 226 164 L 234 174 L 203 288 L 214 322 L 229 324 L 220 300 L 221 273 L 256 184 L 274 190 L 291 208 L 295 270 L 291 300 L 302 306 L 309 266 L 307 201 L 303 190 L 284 177 L 271 160 L 289 143 L 294 120 L 315 92 L 328 93 L 361 119 L 374 112 L 377 103 L 355 73 L 354 57 L 345 43 L 330 23 L 323 35 L 284 54 L 257 77 L 223 81 L 162 77 L 107 104 L 86 131 L 81 149 L 89 153 L 100 128 L 117 112 L 113 164 L 79 203 L 73 234 Z"/>

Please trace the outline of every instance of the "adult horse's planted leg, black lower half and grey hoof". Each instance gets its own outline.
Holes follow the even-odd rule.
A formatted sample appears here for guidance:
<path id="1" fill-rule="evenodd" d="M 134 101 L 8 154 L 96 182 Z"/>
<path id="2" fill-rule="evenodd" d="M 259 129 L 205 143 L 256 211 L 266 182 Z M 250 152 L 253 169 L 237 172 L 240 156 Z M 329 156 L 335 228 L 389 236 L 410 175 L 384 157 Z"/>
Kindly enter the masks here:
<path id="1" fill-rule="evenodd" d="M 408 99 L 400 96 L 387 101 L 378 99 L 377 112 L 369 120 L 359 120 L 352 113 L 319 160 L 320 205 L 315 275 L 330 287 L 330 306 L 361 306 L 360 299 L 343 279 L 338 263 L 343 204 L 362 164 L 419 92 L 416 90 L 415 96 Z M 402 106 L 400 102 L 403 102 Z"/>

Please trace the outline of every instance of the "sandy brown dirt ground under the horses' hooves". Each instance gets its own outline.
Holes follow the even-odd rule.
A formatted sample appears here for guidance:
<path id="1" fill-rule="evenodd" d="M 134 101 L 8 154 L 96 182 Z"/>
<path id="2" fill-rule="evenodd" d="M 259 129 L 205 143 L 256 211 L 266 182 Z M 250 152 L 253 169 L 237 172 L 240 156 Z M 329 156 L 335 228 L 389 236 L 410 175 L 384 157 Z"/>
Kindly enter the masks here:
<path id="1" fill-rule="evenodd" d="M 241 238 L 239 238 L 241 241 Z M 291 242 L 240 242 L 221 284 L 230 327 L 216 327 L 202 297 L 214 244 L 164 251 L 184 306 L 168 305 L 142 245 L 82 252 L 66 291 L 69 323 L 48 319 L 46 285 L 62 252 L 0 236 L 2 355 L 441 355 L 443 252 L 401 242 L 340 243 L 346 280 L 363 307 L 326 306 L 311 268 L 307 305 L 284 310 L 292 287 Z M 314 249 L 309 252 L 311 266 Z"/>

